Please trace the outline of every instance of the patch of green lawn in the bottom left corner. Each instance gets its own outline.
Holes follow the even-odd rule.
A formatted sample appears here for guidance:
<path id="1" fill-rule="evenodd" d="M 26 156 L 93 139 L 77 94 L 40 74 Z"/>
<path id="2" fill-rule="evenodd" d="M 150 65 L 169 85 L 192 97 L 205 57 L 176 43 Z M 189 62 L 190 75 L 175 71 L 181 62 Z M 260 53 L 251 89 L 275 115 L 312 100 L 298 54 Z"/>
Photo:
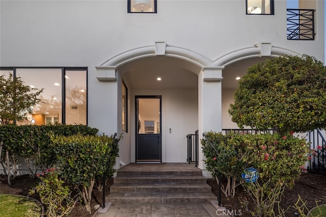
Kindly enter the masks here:
<path id="1" fill-rule="evenodd" d="M 42 209 L 34 200 L 25 197 L 0 194 L 1 217 L 41 216 Z"/>

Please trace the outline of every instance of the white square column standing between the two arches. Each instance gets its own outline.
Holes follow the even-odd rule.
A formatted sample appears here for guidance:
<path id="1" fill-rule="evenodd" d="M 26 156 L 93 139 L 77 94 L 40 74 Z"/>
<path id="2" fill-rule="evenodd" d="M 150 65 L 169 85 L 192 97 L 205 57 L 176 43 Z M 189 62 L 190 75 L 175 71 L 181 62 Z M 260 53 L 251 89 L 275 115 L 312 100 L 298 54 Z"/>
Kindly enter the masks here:
<path id="1" fill-rule="evenodd" d="M 222 70 L 224 67 L 204 67 L 198 75 L 198 131 L 199 140 L 203 132 L 222 131 Z M 199 145 L 199 168 L 204 176 L 205 158 L 201 144 Z"/>

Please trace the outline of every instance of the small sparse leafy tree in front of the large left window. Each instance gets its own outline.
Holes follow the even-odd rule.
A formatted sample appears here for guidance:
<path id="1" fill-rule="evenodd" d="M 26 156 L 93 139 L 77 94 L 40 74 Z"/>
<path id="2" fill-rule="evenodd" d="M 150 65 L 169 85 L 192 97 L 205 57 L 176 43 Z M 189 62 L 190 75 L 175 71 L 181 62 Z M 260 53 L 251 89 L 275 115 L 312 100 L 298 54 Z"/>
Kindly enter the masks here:
<path id="1" fill-rule="evenodd" d="M 0 125 L 28 120 L 32 106 L 40 102 L 43 89 L 24 85 L 20 77 L 0 75 Z"/>

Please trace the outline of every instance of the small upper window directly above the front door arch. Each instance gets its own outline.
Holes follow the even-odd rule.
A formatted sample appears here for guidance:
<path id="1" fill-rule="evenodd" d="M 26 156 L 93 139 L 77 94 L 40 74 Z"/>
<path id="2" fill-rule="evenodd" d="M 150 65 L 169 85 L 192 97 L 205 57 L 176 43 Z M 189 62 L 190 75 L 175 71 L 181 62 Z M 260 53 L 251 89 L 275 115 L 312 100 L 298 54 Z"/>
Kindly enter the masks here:
<path id="1" fill-rule="evenodd" d="M 157 13 L 156 0 L 127 0 L 128 13 Z"/>

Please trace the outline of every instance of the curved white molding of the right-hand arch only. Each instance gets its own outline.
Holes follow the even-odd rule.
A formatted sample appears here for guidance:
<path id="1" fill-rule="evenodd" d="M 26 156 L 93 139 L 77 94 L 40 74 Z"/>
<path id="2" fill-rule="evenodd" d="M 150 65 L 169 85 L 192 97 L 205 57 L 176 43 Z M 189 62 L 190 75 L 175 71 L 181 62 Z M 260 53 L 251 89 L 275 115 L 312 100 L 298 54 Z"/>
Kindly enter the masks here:
<path id="1" fill-rule="evenodd" d="M 270 57 L 280 57 L 280 56 L 301 56 L 300 53 L 294 52 L 289 49 L 284 49 L 277 46 L 271 46 L 270 43 L 270 55 L 265 54 L 262 44 L 268 44 L 269 42 L 260 42 L 255 44 L 253 47 L 245 47 L 223 55 L 222 57 L 213 61 L 214 66 L 227 66 L 237 61 L 249 59 L 249 58 L 259 58 L 261 56 Z"/>

